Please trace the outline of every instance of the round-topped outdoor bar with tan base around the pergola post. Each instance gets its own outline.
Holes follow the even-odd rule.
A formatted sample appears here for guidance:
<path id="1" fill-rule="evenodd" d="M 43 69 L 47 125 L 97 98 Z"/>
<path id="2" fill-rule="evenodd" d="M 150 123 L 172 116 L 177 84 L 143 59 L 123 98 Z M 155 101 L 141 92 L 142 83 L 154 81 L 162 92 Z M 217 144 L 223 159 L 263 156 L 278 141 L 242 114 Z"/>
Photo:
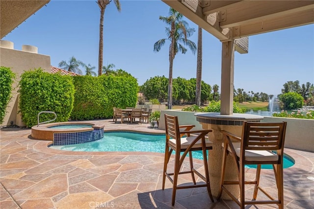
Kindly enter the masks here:
<path id="1" fill-rule="evenodd" d="M 260 122 L 263 116 L 250 114 L 233 114 L 229 116 L 220 115 L 220 113 L 196 113 L 196 120 L 202 124 L 203 129 L 211 129 L 209 140 L 213 142 L 212 150 L 209 150 L 209 179 L 210 188 L 213 196 L 217 196 L 220 189 L 221 166 L 222 166 L 222 143 L 223 135 L 220 130 L 225 130 L 241 137 L 243 121 Z M 236 141 L 238 142 L 238 141 Z M 225 181 L 237 181 L 237 167 L 232 156 L 227 157 Z M 229 191 L 239 197 L 239 186 L 228 185 Z M 222 199 L 231 199 L 225 192 L 222 193 Z"/>

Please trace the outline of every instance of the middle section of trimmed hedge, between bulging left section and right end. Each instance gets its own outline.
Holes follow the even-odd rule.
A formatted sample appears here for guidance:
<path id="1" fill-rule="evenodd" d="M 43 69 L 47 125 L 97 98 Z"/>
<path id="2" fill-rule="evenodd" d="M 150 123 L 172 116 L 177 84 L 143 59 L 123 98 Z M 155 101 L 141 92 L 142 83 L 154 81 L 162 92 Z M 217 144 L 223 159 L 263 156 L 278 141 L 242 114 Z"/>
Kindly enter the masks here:
<path id="1" fill-rule="evenodd" d="M 104 118 L 107 116 L 107 93 L 98 77 L 75 76 L 73 120 Z"/>

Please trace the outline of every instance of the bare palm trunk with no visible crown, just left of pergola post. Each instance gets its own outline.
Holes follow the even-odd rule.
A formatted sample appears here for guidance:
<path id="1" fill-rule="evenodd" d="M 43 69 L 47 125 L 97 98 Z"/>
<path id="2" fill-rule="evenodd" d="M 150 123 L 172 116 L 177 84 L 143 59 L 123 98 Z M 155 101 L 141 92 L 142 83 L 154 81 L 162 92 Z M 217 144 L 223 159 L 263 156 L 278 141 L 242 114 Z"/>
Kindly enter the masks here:
<path id="1" fill-rule="evenodd" d="M 202 28 L 198 26 L 197 37 L 197 67 L 196 67 L 196 105 L 201 105 L 201 90 L 202 90 Z"/>

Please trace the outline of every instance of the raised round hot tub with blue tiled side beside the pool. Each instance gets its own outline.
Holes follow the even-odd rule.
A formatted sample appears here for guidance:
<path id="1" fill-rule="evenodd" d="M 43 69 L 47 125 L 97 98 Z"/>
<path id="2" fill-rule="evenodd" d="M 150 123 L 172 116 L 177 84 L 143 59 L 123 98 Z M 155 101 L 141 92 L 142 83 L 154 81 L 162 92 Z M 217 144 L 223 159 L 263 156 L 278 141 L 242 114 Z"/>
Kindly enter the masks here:
<path id="1" fill-rule="evenodd" d="M 99 123 L 99 122 L 98 122 Z M 46 123 L 31 128 L 34 139 L 52 140 L 53 145 L 79 144 L 104 137 L 104 125 L 86 122 Z"/>

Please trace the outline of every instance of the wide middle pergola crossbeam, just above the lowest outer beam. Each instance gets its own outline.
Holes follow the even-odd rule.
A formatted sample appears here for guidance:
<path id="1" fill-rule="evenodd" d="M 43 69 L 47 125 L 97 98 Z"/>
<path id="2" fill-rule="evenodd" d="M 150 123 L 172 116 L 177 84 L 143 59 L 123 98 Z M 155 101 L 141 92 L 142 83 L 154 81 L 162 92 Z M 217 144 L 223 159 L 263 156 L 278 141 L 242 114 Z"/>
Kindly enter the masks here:
<path id="1" fill-rule="evenodd" d="M 228 6 L 225 18 L 220 20 L 220 27 L 230 28 L 265 21 L 308 9 L 314 9 L 313 0 L 241 1 Z"/>

